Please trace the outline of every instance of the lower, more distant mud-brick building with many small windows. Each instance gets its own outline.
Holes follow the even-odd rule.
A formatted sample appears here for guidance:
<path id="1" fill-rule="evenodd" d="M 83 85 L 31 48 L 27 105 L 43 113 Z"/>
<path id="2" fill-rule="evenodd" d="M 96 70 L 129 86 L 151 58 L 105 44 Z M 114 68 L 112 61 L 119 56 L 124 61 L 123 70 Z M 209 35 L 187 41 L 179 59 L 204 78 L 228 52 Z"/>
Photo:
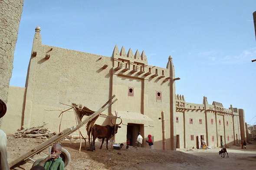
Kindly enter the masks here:
<path id="1" fill-rule="evenodd" d="M 223 108 L 221 103 L 209 105 L 204 97 L 203 104 L 186 103 L 184 96 L 176 98 L 176 127 L 180 148 L 200 148 L 202 138 L 208 146 L 220 147 L 239 144 L 241 140 L 240 116 L 231 106 Z M 184 134 L 184 135 L 182 135 Z"/>

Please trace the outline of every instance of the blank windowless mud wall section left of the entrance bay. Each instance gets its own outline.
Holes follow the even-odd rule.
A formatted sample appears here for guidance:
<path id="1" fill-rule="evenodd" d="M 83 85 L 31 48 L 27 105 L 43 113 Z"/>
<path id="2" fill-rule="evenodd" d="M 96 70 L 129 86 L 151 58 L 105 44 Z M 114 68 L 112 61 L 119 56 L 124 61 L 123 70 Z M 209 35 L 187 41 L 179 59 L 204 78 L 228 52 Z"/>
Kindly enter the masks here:
<path id="1" fill-rule="evenodd" d="M 61 130 L 76 125 L 72 110 L 59 117 L 61 110 L 68 108 L 63 104 L 82 104 L 97 111 L 109 99 L 111 74 L 110 69 L 101 69 L 104 64 L 111 65 L 111 58 L 43 45 L 37 27 L 26 80 L 23 125 L 49 122 L 46 128 L 59 132 L 60 121 Z M 81 130 L 85 134 L 85 128 Z"/>

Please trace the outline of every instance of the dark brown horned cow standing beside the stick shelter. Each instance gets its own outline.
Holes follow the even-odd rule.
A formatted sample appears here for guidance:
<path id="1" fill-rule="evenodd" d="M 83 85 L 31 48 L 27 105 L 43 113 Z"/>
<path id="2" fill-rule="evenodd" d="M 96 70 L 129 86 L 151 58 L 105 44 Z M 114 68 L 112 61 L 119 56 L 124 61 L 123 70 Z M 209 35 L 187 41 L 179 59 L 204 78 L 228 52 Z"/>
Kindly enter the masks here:
<path id="1" fill-rule="evenodd" d="M 112 120 L 111 123 L 113 124 Z M 122 123 L 122 119 L 121 119 L 121 123 Z M 104 143 L 104 140 L 106 138 L 107 141 L 107 150 L 108 150 L 108 139 L 112 138 L 114 133 L 117 133 L 118 128 L 121 128 L 121 123 L 119 124 L 114 124 L 111 125 L 106 125 L 106 126 L 101 126 L 101 125 L 93 125 L 91 130 L 89 131 L 89 134 L 92 133 L 92 142 L 91 142 L 91 149 L 92 151 L 95 151 L 95 139 L 99 138 L 102 139 L 102 144 Z M 114 130 L 115 127 L 115 130 Z M 91 132 L 92 131 L 92 132 Z M 89 141 L 90 141 L 90 135 L 89 135 Z M 102 145 L 100 147 L 100 149 L 102 149 Z"/>

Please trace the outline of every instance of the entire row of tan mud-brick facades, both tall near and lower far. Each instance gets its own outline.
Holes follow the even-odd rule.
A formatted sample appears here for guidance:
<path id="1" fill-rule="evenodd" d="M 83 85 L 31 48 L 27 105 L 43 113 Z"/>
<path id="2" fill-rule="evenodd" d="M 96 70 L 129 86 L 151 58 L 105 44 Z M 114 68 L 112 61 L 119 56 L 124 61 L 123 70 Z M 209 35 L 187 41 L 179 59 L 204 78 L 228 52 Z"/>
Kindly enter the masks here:
<path id="1" fill-rule="evenodd" d="M 171 56 L 166 68 L 155 67 L 148 65 L 144 51 L 140 54 L 137 50 L 134 54 L 131 49 L 126 52 L 122 47 L 119 51 L 115 46 L 112 57 L 107 57 L 43 45 L 40 31 L 40 27 L 36 27 L 26 87 L 10 87 L 7 116 L 2 125 L 8 134 L 21 126 L 46 121 L 49 122 L 46 128 L 59 132 L 60 110 L 67 109 L 61 103 L 80 103 L 96 111 L 114 94 L 118 101 L 103 113 L 113 115 L 117 111 L 123 120 L 116 143 L 125 144 L 130 134 L 131 144 L 135 145 L 141 132 L 142 147 L 148 147 L 145 141 L 151 134 L 156 149 L 163 149 L 166 144 L 167 150 L 176 150 L 177 141 L 179 148 L 196 147 L 198 135 L 203 135 L 207 144 L 217 147 L 220 135 L 223 141 L 230 136 L 230 142 L 226 140 L 225 144 L 236 144 L 235 134 L 240 134 L 238 140 L 245 134 L 237 130 L 244 124 L 242 109 L 224 109 L 216 102 L 209 105 L 206 98 L 203 105 L 186 103 L 184 96 L 176 96 L 177 79 Z M 194 121 L 192 125 L 190 118 Z M 203 124 L 197 119 L 203 119 Z M 219 119 L 228 121 L 229 126 L 223 122 L 217 124 Z M 7 122 L 13 122 L 12 127 Z M 96 123 L 107 125 L 110 120 L 99 118 Z M 75 124 L 74 113 L 65 112 L 61 130 Z M 85 134 L 85 128 L 81 131 Z M 163 142 L 163 132 L 166 142 Z M 194 135 L 194 141 L 190 140 L 190 135 Z M 212 136 L 215 136 L 214 141 Z"/>

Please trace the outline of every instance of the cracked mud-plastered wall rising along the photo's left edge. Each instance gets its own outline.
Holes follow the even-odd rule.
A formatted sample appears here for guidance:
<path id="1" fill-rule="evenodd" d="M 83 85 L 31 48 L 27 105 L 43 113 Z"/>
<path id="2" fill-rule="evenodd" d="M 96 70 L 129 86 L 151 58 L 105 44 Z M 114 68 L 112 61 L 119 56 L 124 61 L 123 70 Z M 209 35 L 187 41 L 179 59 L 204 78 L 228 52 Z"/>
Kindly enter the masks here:
<path id="1" fill-rule="evenodd" d="M 0 99 L 7 103 L 23 0 L 0 0 Z M 0 119 L 0 127 L 1 127 Z"/>

